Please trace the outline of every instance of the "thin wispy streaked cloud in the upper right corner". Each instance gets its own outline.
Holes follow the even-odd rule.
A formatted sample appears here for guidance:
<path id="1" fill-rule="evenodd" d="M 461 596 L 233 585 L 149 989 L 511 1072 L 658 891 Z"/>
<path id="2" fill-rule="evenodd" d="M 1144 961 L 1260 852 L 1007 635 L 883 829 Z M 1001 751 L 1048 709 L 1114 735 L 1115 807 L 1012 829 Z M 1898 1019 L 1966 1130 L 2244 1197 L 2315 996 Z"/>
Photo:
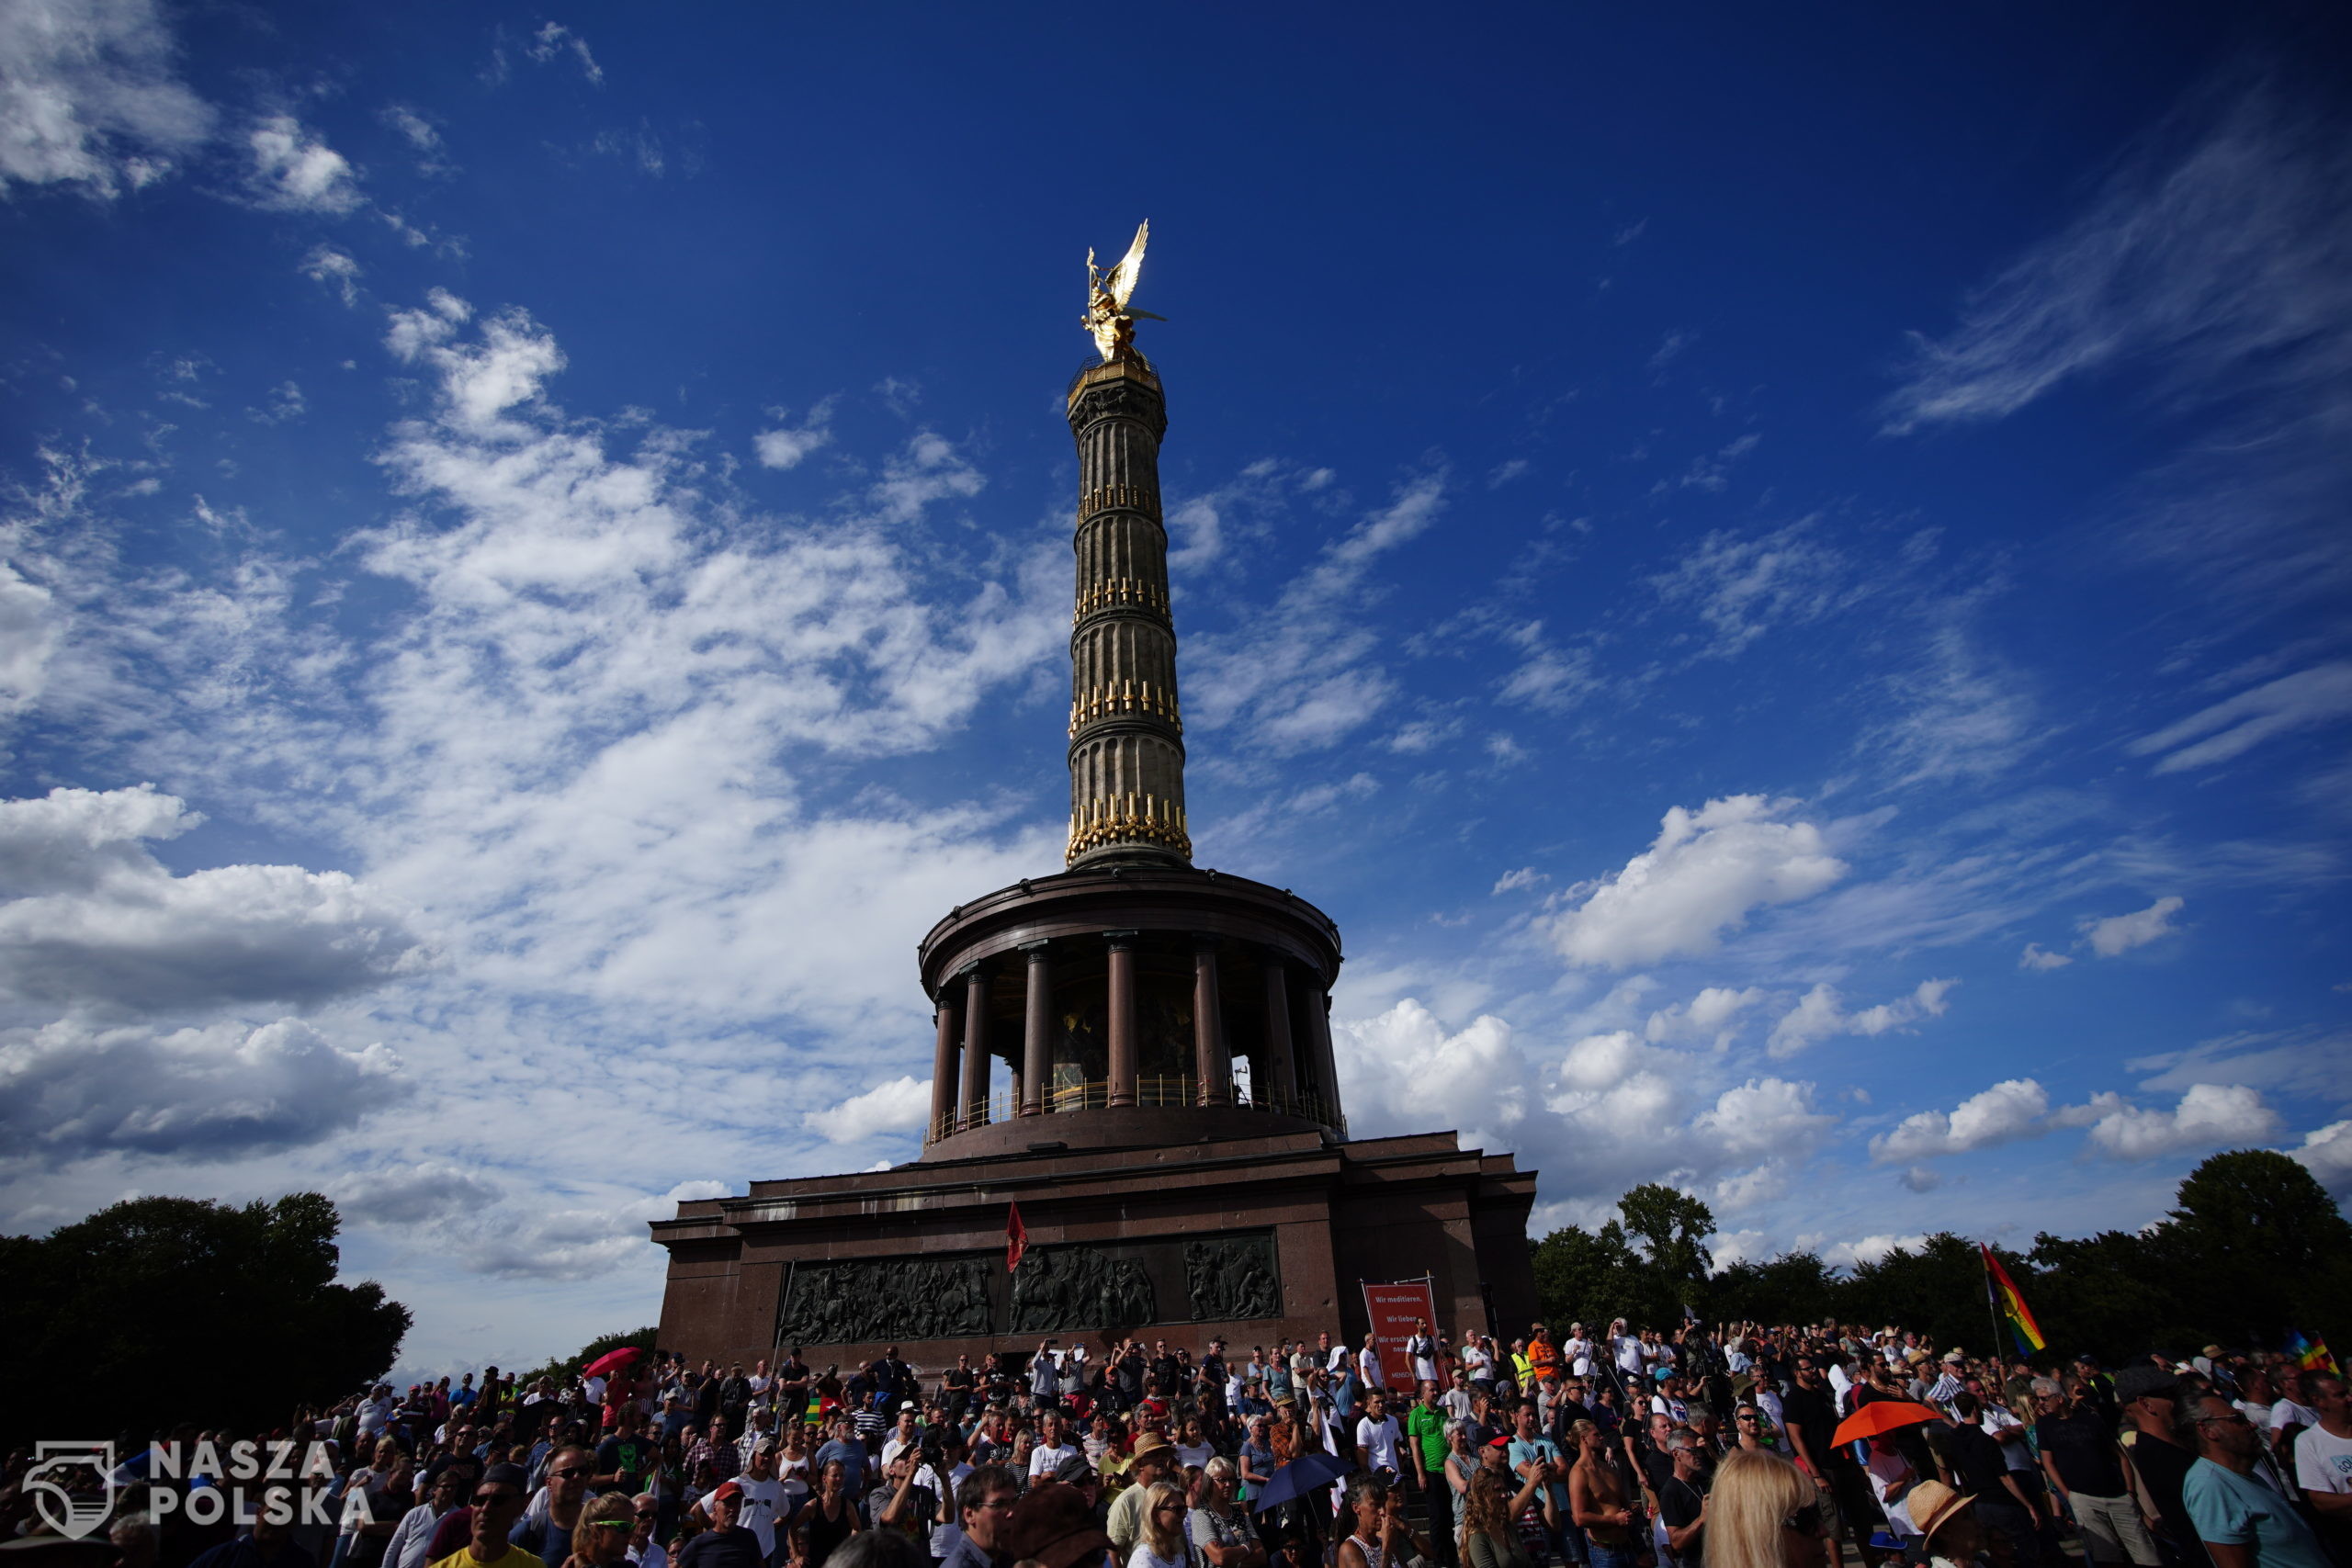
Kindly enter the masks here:
<path id="1" fill-rule="evenodd" d="M 2124 543 L 2249 607 L 2340 595 L 2352 418 L 2352 148 L 2277 80 L 2199 89 L 2096 200 L 1915 339 L 1889 430 L 1992 421 L 2084 376 L 2204 411 L 2131 496 Z M 2187 766 L 2187 764 L 2185 764 Z"/>

